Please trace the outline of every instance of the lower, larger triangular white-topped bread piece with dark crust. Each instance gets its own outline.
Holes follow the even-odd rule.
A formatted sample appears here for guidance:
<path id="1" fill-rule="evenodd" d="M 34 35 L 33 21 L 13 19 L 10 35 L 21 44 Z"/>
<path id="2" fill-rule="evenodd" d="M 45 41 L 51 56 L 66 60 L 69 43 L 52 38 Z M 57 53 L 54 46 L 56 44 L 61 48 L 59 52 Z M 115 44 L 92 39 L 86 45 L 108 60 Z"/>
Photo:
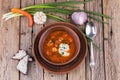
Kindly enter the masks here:
<path id="1" fill-rule="evenodd" d="M 29 55 L 26 55 L 21 59 L 17 65 L 17 69 L 23 74 L 27 74 L 27 65 L 28 65 Z"/>

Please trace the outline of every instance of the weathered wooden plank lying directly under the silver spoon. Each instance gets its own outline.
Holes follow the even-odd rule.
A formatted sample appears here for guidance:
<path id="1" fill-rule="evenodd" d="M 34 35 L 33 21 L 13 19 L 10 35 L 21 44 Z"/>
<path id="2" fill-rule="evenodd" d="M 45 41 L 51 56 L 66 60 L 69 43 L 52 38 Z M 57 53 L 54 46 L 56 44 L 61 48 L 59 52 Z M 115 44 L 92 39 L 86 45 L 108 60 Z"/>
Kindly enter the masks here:
<path id="1" fill-rule="evenodd" d="M 93 2 L 86 4 L 85 9 L 95 12 L 102 13 L 102 2 L 101 0 L 94 0 Z M 95 16 L 94 16 L 95 17 Z M 91 20 L 91 19 L 90 19 Z M 89 67 L 89 55 L 86 60 L 86 79 L 87 80 L 105 80 L 104 73 L 104 53 L 103 53 L 103 26 L 101 23 L 91 20 L 97 26 L 97 36 L 95 37 L 94 42 L 102 49 L 99 51 L 94 48 L 94 57 L 95 57 L 95 69 L 91 71 Z"/>

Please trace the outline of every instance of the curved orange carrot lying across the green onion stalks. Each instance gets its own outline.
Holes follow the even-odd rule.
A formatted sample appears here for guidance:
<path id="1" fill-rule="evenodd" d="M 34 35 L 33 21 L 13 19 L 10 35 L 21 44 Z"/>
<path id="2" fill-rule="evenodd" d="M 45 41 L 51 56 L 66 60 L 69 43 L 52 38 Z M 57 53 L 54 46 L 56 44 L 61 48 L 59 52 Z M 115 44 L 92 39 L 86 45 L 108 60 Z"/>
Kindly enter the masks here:
<path id="1" fill-rule="evenodd" d="M 15 12 L 15 13 L 20 13 L 20 14 L 23 14 L 24 16 L 26 16 L 29 19 L 29 26 L 32 27 L 33 18 L 28 12 L 21 10 L 21 9 L 18 9 L 18 8 L 13 8 L 11 11 Z"/>

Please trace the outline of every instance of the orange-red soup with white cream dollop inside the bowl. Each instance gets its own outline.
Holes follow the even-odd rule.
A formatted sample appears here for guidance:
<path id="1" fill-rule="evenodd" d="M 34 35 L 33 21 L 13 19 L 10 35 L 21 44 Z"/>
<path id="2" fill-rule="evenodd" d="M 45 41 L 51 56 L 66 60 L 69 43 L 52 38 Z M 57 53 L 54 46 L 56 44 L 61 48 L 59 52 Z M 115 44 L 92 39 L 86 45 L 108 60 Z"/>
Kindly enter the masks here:
<path id="1" fill-rule="evenodd" d="M 69 61 L 75 52 L 75 41 L 66 31 L 51 32 L 45 39 L 43 51 L 45 57 L 55 63 Z"/>

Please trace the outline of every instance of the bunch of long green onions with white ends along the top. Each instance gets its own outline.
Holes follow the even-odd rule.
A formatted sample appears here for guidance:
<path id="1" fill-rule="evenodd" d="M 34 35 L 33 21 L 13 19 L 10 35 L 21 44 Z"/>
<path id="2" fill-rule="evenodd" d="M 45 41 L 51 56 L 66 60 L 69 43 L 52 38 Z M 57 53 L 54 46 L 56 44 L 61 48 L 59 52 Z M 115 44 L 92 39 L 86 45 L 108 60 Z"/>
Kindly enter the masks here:
<path id="1" fill-rule="evenodd" d="M 70 22 L 70 21 L 66 20 L 62 17 L 50 14 L 49 12 L 59 13 L 59 14 L 68 15 L 68 16 L 72 15 L 72 13 L 74 13 L 74 12 L 86 12 L 87 14 L 89 14 L 88 15 L 89 18 L 96 20 L 103 24 L 108 24 L 108 22 L 105 22 L 104 20 L 102 20 L 102 18 L 106 18 L 106 19 L 112 19 L 112 18 L 105 14 L 93 12 L 93 11 L 87 11 L 87 10 L 75 10 L 74 9 L 74 8 L 78 8 L 77 6 L 75 6 L 75 4 L 86 4 L 91 1 L 93 1 L 93 0 L 52 2 L 52 3 L 28 6 L 28 7 L 22 8 L 22 10 L 30 13 L 31 15 L 34 15 L 36 12 L 42 11 L 42 12 L 46 13 L 48 18 L 51 18 L 51 19 L 54 19 L 57 21 L 62 21 L 62 22 Z M 8 13 L 4 14 L 2 18 L 5 20 L 9 20 L 13 17 L 18 17 L 18 16 L 23 16 L 23 15 L 19 14 L 19 13 L 8 12 Z M 90 40 L 88 37 L 86 39 Z M 98 48 L 98 47 L 96 46 L 96 48 Z"/>

